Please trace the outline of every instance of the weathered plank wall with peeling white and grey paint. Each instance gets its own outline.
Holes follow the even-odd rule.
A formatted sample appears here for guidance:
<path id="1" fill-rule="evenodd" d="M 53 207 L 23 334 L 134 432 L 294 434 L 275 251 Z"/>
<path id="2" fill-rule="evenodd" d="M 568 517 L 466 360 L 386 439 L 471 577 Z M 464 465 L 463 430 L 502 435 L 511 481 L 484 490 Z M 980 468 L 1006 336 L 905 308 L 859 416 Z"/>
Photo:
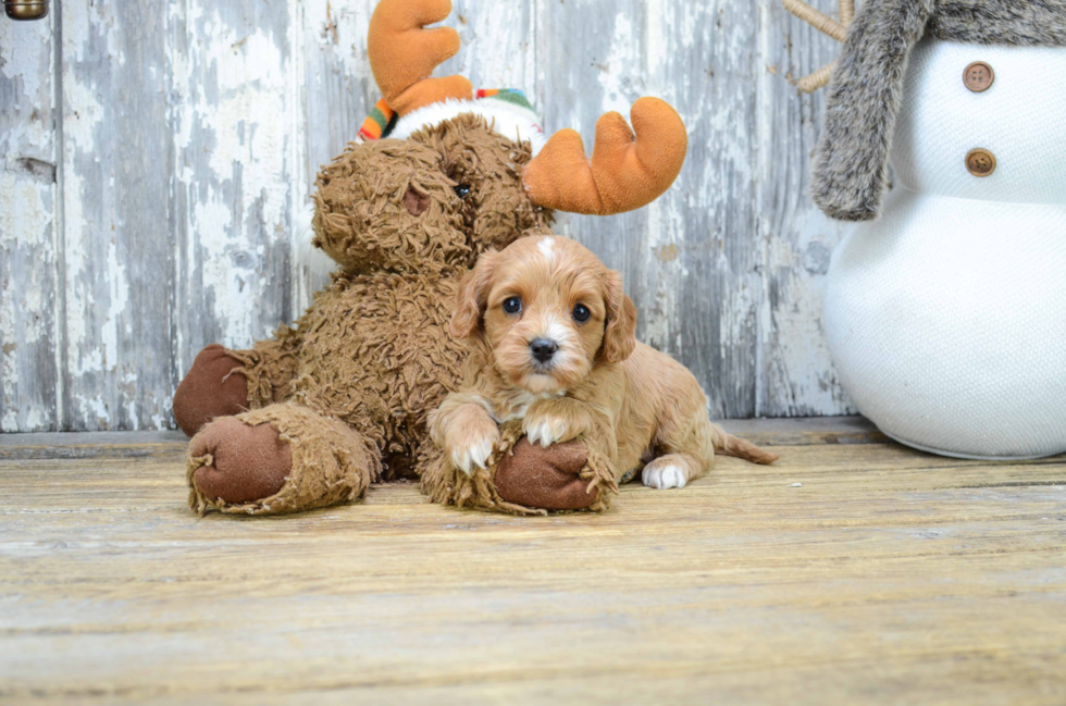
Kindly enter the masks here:
<path id="1" fill-rule="evenodd" d="M 591 145 L 642 95 L 684 117 L 666 196 L 561 230 L 624 272 L 711 412 L 853 411 L 820 330 L 842 230 L 805 196 L 821 98 L 788 83 L 835 42 L 778 0 L 454 1 L 442 71 L 522 88 L 547 129 Z M 322 284 L 294 214 L 377 99 L 374 0 L 52 4 L 0 21 L 0 430 L 171 426 L 203 345 L 249 345 Z"/>

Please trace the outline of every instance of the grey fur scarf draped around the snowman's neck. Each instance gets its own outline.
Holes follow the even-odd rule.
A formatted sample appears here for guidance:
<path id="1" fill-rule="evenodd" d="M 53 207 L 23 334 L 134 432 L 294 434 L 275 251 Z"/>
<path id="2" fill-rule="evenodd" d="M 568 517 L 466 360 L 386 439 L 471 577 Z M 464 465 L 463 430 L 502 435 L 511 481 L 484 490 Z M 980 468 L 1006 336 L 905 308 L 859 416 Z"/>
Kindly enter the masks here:
<path id="1" fill-rule="evenodd" d="M 830 218 L 881 206 L 912 47 L 925 35 L 986 45 L 1066 46 L 1066 0 L 866 0 L 829 83 L 811 197 Z"/>

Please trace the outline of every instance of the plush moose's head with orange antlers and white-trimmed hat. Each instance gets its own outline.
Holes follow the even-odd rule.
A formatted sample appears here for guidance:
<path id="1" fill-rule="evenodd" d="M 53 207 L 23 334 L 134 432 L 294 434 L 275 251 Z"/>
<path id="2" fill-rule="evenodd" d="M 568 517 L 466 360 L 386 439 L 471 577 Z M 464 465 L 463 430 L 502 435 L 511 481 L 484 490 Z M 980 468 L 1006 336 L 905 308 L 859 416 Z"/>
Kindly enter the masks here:
<path id="1" fill-rule="evenodd" d="M 603 115 L 590 160 L 572 129 L 545 143 L 528 106 L 474 99 L 462 76 L 427 77 L 459 50 L 455 29 L 424 28 L 450 10 L 450 0 L 383 0 L 371 18 L 377 110 L 392 132 L 349 145 L 322 171 L 314 197 L 314 243 L 345 271 L 469 267 L 486 249 L 546 230 L 556 209 L 620 213 L 670 186 L 687 138 L 661 100 L 634 103 L 632 131 L 618 113 Z"/>

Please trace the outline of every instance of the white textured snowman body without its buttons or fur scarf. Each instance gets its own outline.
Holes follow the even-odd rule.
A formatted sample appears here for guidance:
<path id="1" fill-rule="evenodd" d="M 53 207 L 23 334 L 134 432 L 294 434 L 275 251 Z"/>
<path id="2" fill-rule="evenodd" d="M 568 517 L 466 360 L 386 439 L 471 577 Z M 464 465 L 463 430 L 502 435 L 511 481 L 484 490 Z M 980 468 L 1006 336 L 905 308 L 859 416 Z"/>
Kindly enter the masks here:
<path id="1" fill-rule="evenodd" d="M 964 83 L 975 62 L 994 79 Z M 970 162 L 980 150 L 994 170 Z M 1066 50 L 926 39 L 877 221 L 833 256 L 825 323 L 884 433 L 962 457 L 1066 451 Z"/>

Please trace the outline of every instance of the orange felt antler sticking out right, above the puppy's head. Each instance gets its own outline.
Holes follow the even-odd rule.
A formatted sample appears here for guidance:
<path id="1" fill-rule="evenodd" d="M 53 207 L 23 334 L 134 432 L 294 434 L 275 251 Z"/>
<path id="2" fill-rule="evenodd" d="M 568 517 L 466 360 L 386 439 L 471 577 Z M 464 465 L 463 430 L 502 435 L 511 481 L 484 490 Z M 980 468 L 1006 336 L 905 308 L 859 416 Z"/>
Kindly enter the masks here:
<path id="1" fill-rule="evenodd" d="M 684 123 L 658 98 L 637 100 L 630 117 L 632 131 L 618 113 L 600 116 L 592 160 L 574 131 L 553 135 L 522 173 L 533 202 L 608 215 L 639 209 L 670 188 L 689 148 Z"/>

